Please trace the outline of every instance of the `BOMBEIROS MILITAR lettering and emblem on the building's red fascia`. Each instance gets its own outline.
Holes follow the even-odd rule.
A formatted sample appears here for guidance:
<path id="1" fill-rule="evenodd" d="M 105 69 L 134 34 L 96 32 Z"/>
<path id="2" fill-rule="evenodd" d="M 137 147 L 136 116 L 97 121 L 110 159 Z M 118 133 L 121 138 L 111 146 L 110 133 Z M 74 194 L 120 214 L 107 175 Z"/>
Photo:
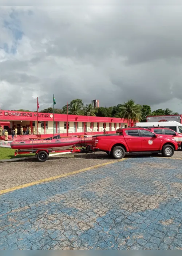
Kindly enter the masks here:
<path id="1" fill-rule="evenodd" d="M 2 110 L 0 111 L 0 116 L 9 116 L 9 117 L 37 117 L 37 113 L 35 112 L 17 112 L 17 111 L 5 111 Z M 38 117 L 42 117 L 42 118 L 52 118 L 53 115 L 52 114 L 47 114 L 47 113 L 38 113 Z"/>

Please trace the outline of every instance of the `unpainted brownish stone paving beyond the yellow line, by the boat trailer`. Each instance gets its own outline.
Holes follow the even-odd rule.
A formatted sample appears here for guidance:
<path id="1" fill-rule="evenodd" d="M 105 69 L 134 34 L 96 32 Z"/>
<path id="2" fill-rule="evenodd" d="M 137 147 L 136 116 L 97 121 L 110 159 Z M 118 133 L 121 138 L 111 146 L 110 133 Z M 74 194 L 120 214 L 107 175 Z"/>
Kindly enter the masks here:
<path id="1" fill-rule="evenodd" d="M 133 156 L 131 154 L 131 157 Z M 151 157 L 146 155 L 149 156 Z M 173 158 L 182 159 L 182 151 L 176 151 Z M 106 153 L 97 153 L 60 155 L 50 157 L 43 163 L 37 162 L 36 159 L 1 163 L 1 190 L 110 161 L 117 160 L 111 159 Z"/>

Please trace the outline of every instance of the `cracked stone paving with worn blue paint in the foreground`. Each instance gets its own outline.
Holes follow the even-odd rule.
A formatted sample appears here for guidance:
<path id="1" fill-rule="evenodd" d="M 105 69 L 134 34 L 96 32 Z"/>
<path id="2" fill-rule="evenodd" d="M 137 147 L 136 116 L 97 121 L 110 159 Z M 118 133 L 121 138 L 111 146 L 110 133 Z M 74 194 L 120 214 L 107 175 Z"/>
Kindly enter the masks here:
<path id="1" fill-rule="evenodd" d="M 5 193 L 0 249 L 182 250 L 181 163 L 128 158 Z"/>

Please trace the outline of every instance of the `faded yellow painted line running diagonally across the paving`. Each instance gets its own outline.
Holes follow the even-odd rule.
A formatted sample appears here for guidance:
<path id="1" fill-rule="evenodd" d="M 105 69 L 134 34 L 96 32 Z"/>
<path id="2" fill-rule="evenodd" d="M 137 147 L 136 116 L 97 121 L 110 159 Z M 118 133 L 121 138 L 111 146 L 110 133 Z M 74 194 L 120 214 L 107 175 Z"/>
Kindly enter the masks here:
<path id="1" fill-rule="evenodd" d="M 110 162 L 107 162 L 107 163 L 100 163 L 99 165 L 90 166 L 90 167 L 87 167 L 87 168 L 84 168 L 84 169 L 81 169 L 81 170 L 77 170 L 77 171 L 74 171 L 74 172 L 64 173 L 64 174 L 60 174 L 60 175 L 57 175 L 57 176 L 54 176 L 54 177 L 49 177 L 49 178 L 44 178 L 42 180 L 37 180 L 37 181 L 29 182 L 27 184 L 23 184 L 23 185 L 20 185 L 20 186 L 17 186 L 17 187 L 1 190 L 0 194 L 12 192 L 12 191 L 15 191 L 15 190 L 20 189 L 20 188 L 27 188 L 27 187 L 30 187 L 30 186 L 33 186 L 33 185 L 37 185 L 37 184 L 40 184 L 40 183 L 43 183 L 43 182 L 48 182 L 48 181 L 56 180 L 58 178 L 64 178 L 64 177 L 67 177 L 67 176 L 70 176 L 70 175 L 73 175 L 73 174 L 77 174 L 77 173 L 81 173 L 81 172 L 86 172 L 86 171 L 94 169 L 94 168 L 102 167 L 102 166 L 105 166 L 105 165 L 110 165 L 111 163 L 121 162 L 123 160 L 126 160 L 126 158 L 122 158 L 122 159 L 119 159 L 117 161 L 110 161 Z"/>

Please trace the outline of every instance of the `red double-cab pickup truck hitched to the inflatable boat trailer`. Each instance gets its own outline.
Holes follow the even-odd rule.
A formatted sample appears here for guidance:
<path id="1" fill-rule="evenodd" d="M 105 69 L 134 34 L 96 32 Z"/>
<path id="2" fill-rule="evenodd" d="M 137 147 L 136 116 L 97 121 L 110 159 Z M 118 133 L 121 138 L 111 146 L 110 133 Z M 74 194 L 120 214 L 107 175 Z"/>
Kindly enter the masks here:
<path id="1" fill-rule="evenodd" d="M 162 153 L 172 157 L 179 144 L 174 138 L 160 136 L 145 128 L 118 129 L 116 134 L 92 136 L 95 149 L 104 151 L 115 159 L 125 153 Z"/>

